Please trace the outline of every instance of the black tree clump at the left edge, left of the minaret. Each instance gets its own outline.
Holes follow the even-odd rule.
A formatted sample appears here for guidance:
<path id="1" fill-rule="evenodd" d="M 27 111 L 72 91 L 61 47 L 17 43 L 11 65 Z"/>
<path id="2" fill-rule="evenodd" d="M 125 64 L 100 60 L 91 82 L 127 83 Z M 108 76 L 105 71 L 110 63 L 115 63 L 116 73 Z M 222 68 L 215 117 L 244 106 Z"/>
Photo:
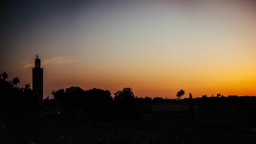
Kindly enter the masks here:
<path id="1" fill-rule="evenodd" d="M 17 121 L 25 122 L 27 118 L 34 120 L 40 112 L 29 83 L 22 88 L 17 87 L 18 84 L 17 77 L 8 80 L 7 73 L 0 74 L 0 119 L 4 119 L 7 125 L 13 125 Z"/>

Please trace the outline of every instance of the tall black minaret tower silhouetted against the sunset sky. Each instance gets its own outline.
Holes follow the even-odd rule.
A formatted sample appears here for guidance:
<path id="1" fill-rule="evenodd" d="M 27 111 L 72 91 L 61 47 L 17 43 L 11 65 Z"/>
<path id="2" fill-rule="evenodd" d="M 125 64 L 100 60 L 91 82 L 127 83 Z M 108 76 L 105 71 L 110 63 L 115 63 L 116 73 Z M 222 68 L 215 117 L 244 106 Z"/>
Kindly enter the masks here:
<path id="1" fill-rule="evenodd" d="M 43 105 L 43 68 L 38 54 L 35 55 L 35 67 L 32 69 L 32 88 L 33 94 L 37 97 L 39 106 Z"/>

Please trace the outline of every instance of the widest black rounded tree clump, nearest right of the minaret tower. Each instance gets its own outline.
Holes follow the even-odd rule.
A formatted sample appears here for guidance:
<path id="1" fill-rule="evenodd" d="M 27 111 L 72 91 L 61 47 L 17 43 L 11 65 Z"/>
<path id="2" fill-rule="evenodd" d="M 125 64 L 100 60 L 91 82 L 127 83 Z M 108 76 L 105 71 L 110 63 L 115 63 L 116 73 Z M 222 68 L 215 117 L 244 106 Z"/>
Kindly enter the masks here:
<path id="1" fill-rule="evenodd" d="M 56 101 L 59 101 L 63 112 L 67 116 L 79 115 L 90 116 L 90 118 L 106 118 L 111 112 L 111 92 L 102 89 L 90 89 L 84 91 L 79 86 L 52 91 Z"/>

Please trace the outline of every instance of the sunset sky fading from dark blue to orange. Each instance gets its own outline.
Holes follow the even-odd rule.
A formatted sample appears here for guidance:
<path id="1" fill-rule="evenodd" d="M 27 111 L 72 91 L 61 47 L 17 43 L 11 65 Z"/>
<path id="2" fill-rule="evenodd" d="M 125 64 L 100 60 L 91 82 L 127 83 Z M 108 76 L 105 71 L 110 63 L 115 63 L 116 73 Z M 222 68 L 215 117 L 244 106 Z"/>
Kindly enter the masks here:
<path id="1" fill-rule="evenodd" d="M 70 86 L 138 97 L 256 95 L 254 1 L 0 2 L 0 73 L 44 98 Z"/>

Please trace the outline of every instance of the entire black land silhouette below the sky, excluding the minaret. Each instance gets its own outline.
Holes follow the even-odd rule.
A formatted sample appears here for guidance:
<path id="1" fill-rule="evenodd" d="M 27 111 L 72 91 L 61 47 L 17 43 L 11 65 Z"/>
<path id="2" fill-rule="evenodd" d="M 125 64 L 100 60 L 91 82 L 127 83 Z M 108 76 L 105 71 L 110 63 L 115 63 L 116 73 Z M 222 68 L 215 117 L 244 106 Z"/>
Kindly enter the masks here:
<path id="1" fill-rule="evenodd" d="M 33 97 L 0 73 L 0 143 L 254 143 L 256 97 L 137 97 L 79 86 Z M 212 139 L 209 141 L 209 139 Z"/>

